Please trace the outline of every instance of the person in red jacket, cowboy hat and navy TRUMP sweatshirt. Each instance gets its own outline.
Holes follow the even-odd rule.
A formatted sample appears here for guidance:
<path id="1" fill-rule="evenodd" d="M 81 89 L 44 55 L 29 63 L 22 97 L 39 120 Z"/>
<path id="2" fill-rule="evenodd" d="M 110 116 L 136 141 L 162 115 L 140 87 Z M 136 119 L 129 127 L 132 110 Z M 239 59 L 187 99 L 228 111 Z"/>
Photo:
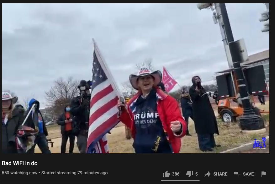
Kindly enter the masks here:
<path id="1" fill-rule="evenodd" d="M 118 100 L 118 117 L 131 129 L 135 153 L 179 153 L 186 134 L 177 101 L 158 87 L 161 79 L 160 71 L 141 68 L 130 75 L 138 93 L 126 105 Z"/>

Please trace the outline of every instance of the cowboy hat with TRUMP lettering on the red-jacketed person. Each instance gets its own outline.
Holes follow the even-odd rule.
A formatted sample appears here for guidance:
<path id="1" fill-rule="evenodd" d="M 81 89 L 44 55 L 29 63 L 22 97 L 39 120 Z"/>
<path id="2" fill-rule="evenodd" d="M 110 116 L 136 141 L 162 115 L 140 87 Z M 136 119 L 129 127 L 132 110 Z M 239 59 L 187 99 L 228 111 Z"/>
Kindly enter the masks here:
<path id="1" fill-rule="evenodd" d="M 161 71 L 157 70 L 157 71 L 152 72 L 150 69 L 144 67 L 139 70 L 137 75 L 130 75 L 129 80 L 130 80 L 132 87 L 136 90 L 139 90 L 139 87 L 137 85 L 138 78 L 142 77 L 142 76 L 147 76 L 147 75 L 151 75 L 155 79 L 154 80 L 155 87 L 161 82 L 161 79 L 162 79 Z"/>

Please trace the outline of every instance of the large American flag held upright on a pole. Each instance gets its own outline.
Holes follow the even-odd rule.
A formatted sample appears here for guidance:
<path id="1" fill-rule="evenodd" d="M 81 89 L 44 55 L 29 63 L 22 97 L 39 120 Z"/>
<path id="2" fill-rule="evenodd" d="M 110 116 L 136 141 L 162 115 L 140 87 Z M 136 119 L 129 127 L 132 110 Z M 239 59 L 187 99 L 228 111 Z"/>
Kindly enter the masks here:
<path id="1" fill-rule="evenodd" d="M 96 43 L 94 43 L 92 82 L 87 153 L 109 153 L 106 134 L 119 123 L 117 108 L 119 92 Z"/>

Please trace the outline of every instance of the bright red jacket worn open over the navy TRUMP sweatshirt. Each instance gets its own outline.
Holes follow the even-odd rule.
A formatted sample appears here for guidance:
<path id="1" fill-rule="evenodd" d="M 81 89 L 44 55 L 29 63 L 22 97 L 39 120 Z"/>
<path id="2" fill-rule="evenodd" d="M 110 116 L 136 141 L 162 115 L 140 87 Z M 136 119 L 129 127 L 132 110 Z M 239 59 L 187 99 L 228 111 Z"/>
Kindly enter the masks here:
<path id="1" fill-rule="evenodd" d="M 135 138 L 135 124 L 134 124 L 134 116 L 130 110 L 131 104 L 140 96 L 141 94 L 136 94 L 127 104 L 126 110 L 123 110 L 119 115 L 119 119 L 122 123 L 128 126 L 131 129 L 131 133 L 133 138 Z M 167 133 L 167 140 L 170 142 L 173 152 L 179 153 L 181 148 L 181 137 L 186 135 L 187 124 L 181 115 L 181 111 L 177 100 L 175 100 L 172 96 L 167 95 L 161 89 L 157 89 L 157 111 L 162 122 L 163 130 Z M 179 121 L 182 124 L 182 134 L 175 135 L 171 130 L 171 122 Z"/>

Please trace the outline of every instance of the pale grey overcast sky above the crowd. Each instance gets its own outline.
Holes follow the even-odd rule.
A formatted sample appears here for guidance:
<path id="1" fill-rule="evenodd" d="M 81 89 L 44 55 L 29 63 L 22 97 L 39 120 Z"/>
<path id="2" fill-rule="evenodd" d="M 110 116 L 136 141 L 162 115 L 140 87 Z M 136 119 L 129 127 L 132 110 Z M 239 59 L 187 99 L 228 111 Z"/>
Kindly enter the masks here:
<path id="1" fill-rule="evenodd" d="M 265 5 L 227 3 L 227 9 L 235 39 L 245 39 L 249 54 L 269 49 L 258 21 Z M 147 58 L 182 85 L 193 75 L 209 81 L 228 67 L 219 26 L 196 3 L 2 3 L 2 90 L 45 102 L 54 80 L 91 79 L 92 38 L 117 83 Z"/>

